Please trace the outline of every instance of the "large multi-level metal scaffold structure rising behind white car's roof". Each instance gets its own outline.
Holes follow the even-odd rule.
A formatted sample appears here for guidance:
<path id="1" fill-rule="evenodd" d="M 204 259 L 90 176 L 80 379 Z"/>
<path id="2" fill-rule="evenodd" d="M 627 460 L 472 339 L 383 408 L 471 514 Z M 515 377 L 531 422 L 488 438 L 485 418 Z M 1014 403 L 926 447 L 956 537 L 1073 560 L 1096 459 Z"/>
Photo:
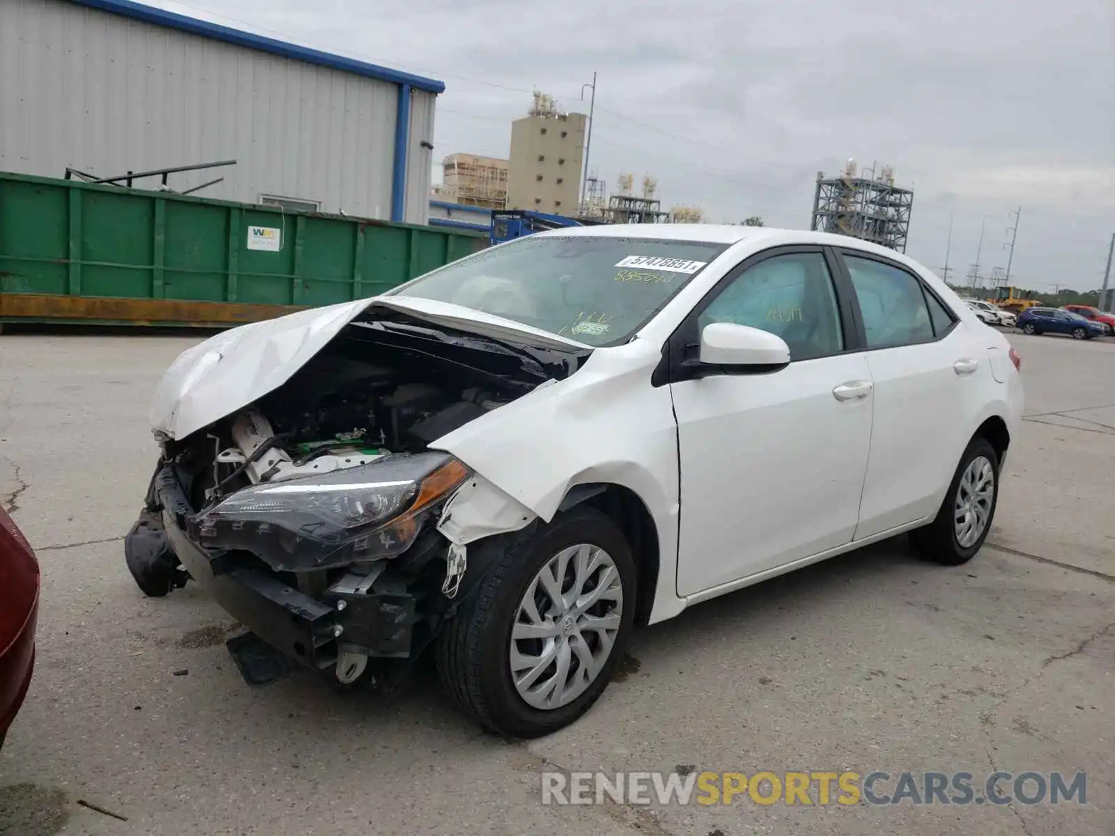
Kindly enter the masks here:
<path id="1" fill-rule="evenodd" d="M 838 177 L 817 172 L 813 198 L 814 232 L 833 232 L 905 252 L 913 191 L 894 185 L 894 171 L 883 166 L 856 173 L 849 159 Z"/>

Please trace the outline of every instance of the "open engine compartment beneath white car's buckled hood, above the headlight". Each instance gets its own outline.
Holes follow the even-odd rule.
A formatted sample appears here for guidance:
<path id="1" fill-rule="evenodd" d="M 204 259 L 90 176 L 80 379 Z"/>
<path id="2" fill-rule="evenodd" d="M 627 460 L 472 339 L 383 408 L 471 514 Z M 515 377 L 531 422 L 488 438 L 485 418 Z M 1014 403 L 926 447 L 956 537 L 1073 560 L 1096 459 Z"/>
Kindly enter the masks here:
<path id="1" fill-rule="evenodd" d="M 209 505 L 249 484 L 425 450 L 578 368 L 559 353 L 450 336 L 401 314 L 352 322 L 287 385 L 206 428 L 212 478 L 196 498 Z"/>

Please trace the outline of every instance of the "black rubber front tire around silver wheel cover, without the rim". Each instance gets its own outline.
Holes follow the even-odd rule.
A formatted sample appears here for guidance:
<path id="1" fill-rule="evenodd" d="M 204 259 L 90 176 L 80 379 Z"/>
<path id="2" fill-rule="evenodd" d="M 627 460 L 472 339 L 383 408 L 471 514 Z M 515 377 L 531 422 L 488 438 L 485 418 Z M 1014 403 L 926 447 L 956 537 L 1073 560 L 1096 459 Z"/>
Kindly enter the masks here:
<path id="1" fill-rule="evenodd" d="M 605 557 L 612 561 L 621 585 L 619 626 L 610 653 L 586 689 L 564 704 L 542 710 L 527 703 L 512 678 L 512 628 L 520 619 L 520 606 L 539 573 L 556 560 L 563 550 L 579 544 L 601 548 Z M 570 558 L 569 562 L 573 564 L 575 558 Z M 598 571 L 591 577 L 599 581 L 602 575 Z M 563 592 L 566 579 L 559 581 Z M 611 585 L 614 581 L 609 583 Z M 622 532 L 608 516 L 585 506 L 560 514 L 549 525 L 536 528 L 506 548 L 477 586 L 469 591 L 456 616 L 442 631 L 438 636 L 437 669 L 443 688 L 485 730 L 496 735 L 530 739 L 570 725 L 597 701 L 623 654 L 634 622 L 636 583 L 631 548 Z M 536 595 L 541 595 L 541 589 Z M 531 600 L 539 601 L 537 597 Z M 601 605 L 614 604 L 602 601 Z M 551 600 L 543 596 L 542 603 L 536 604 L 536 612 L 549 619 L 552 606 Z M 568 619 L 555 620 L 552 626 L 561 632 L 566 622 Z M 589 630 L 588 636 L 583 636 L 580 630 L 575 632 L 574 640 L 569 628 L 565 628 L 564 635 L 555 636 L 553 641 L 559 649 L 563 642 L 572 649 L 576 648 L 578 640 L 586 642 L 585 648 L 590 652 L 593 641 L 601 641 L 599 632 Z M 541 643 L 550 639 L 520 641 L 530 645 L 532 641 Z M 522 648 L 524 644 L 516 647 Z M 570 670 L 575 673 L 574 667 L 578 670 L 581 667 L 575 650 L 566 651 L 565 658 L 572 660 L 569 662 Z M 536 681 L 547 681 L 551 678 L 550 671 L 551 668 L 544 668 Z"/>

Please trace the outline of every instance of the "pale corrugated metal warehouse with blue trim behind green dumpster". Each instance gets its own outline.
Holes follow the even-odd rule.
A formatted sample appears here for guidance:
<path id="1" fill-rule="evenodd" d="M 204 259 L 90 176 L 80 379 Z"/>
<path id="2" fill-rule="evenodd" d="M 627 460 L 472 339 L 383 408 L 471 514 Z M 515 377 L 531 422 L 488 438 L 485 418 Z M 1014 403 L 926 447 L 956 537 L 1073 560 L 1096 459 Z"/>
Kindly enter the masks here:
<path id="1" fill-rule="evenodd" d="M 425 224 L 442 81 L 128 0 L 0 0 L 0 171 Z M 159 181 L 137 181 L 157 187 Z"/>

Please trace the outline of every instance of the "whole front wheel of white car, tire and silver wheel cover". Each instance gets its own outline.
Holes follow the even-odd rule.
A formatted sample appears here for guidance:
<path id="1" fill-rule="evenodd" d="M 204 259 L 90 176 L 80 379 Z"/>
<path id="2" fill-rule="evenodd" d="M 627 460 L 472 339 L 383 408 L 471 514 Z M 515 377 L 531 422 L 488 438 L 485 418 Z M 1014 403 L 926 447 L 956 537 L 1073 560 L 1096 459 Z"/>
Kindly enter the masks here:
<path id="1" fill-rule="evenodd" d="M 593 508 L 573 508 L 507 548 L 471 591 L 439 636 L 442 683 L 488 731 L 556 731 L 604 690 L 634 602 L 623 533 Z"/>

